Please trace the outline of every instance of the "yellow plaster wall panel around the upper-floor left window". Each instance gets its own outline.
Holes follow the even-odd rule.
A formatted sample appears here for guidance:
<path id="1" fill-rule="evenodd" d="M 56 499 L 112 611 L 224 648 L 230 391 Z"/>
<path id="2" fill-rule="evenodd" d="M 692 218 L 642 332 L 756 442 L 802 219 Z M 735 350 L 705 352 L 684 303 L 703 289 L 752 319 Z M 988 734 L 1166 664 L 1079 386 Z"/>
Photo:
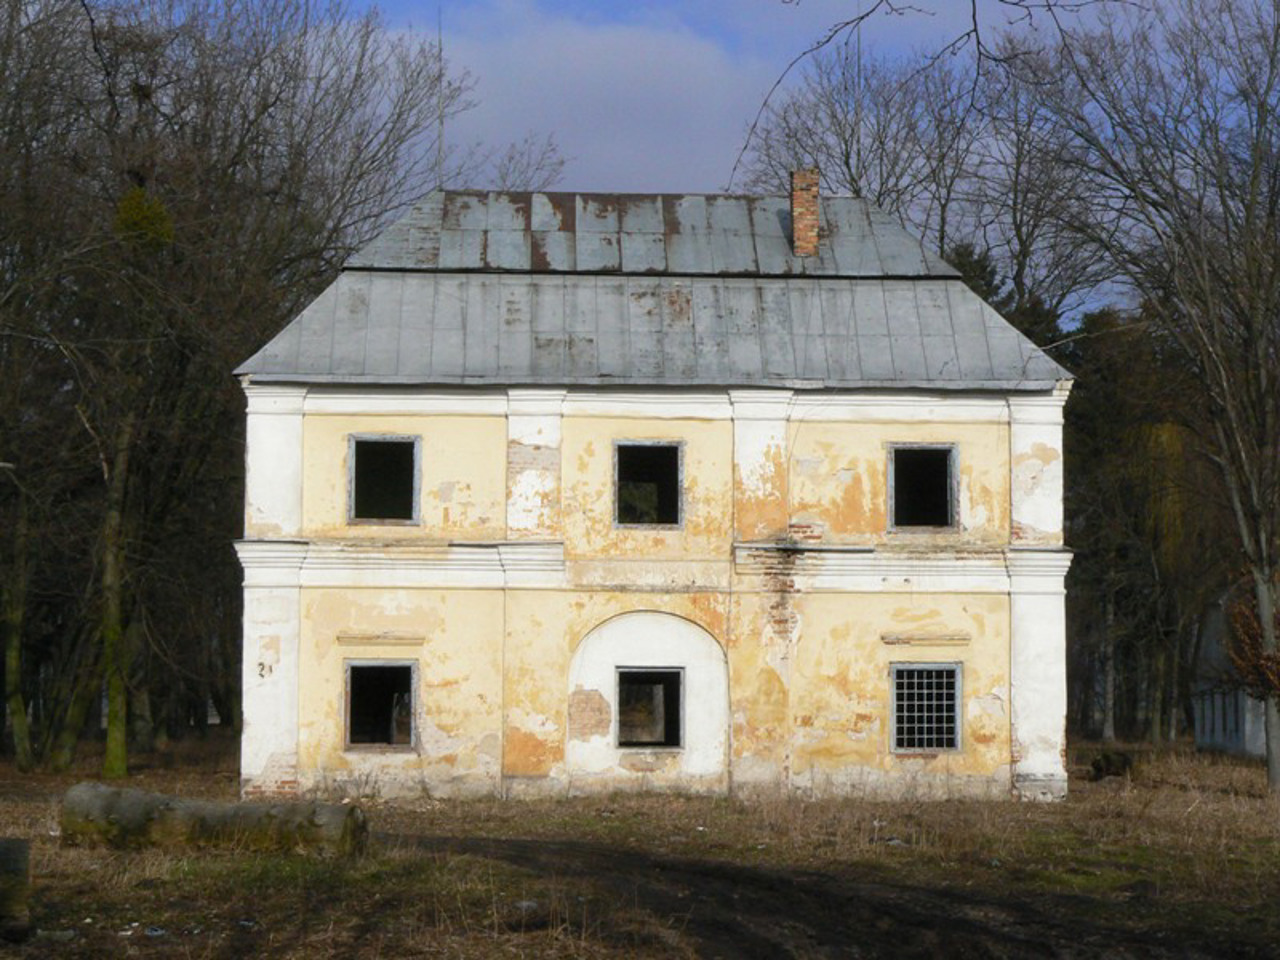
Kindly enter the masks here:
<path id="1" fill-rule="evenodd" d="M 421 436 L 421 524 L 348 524 L 351 434 Z M 500 416 L 338 416 L 302 422 L 305 536 L 502 539 L 507 524 L 507 420 Z"/>

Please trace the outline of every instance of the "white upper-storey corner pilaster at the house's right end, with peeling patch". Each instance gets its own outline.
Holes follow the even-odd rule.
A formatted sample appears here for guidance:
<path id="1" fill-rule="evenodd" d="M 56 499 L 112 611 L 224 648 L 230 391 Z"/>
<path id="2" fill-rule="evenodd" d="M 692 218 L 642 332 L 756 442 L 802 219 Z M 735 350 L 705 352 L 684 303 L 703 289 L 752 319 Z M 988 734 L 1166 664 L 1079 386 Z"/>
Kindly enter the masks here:
<path id="1" fill-rule="evenodd" d="M 1009 398 L 1011 539 L 1015 545 L 1062 544 L 1062 406 L 1071 387 Z"/>

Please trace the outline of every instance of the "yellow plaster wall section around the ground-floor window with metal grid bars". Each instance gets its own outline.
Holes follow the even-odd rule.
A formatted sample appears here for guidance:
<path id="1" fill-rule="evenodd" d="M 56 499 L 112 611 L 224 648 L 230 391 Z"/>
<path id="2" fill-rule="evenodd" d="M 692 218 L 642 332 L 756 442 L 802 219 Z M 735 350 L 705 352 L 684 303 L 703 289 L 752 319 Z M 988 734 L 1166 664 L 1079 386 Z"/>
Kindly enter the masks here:
<path id="1" fill-rule="evenodd" d="M 861 771 L 989 777 L 1009 763 L 1006 596 L 814 593 L 780 604 L 777 594 L 737 593 L 732 625 L 739 780 L 810 782 Z M 961 664 L 961 750 L 893 754 L 892 663 Z"/>

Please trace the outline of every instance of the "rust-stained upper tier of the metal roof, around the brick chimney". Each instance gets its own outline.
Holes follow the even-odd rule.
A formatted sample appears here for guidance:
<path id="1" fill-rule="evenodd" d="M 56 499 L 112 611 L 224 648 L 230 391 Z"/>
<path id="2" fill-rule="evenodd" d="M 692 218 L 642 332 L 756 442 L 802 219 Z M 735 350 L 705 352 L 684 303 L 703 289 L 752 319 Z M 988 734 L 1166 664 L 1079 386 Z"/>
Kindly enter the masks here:
<path id="1" fill-rule="evenodd" d="M 791 253 L 785 197 L 431 193 L 348 269 L 681 276 L 957 276 L 864 200 L 823 197 L 818 256 Z"/>

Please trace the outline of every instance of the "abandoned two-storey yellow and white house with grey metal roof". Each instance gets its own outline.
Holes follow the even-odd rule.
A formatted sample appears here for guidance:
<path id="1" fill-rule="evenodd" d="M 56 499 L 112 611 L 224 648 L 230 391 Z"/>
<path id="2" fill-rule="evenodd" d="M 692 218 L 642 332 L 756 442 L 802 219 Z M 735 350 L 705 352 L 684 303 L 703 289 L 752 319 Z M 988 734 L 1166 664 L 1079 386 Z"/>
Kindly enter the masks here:
<path id="1" fill-rule="evenodd" d="M 237 372 L 246 795 L 1066 792 L 1070 374 L 815 172 L 431 193 Z"/>

